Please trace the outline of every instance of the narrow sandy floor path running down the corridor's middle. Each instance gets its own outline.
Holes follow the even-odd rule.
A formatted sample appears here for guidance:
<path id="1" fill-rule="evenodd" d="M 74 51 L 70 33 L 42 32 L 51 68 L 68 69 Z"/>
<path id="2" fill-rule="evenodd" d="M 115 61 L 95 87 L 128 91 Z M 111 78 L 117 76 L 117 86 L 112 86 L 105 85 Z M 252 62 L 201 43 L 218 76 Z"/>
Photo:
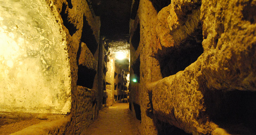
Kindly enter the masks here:
<path id="1" fill-rule="evenodd" d="M 139 135 L 139 123 L 132 117 L 128 103 L 115 103 L 100 110 L 97 120 L 82 135 Z"/>

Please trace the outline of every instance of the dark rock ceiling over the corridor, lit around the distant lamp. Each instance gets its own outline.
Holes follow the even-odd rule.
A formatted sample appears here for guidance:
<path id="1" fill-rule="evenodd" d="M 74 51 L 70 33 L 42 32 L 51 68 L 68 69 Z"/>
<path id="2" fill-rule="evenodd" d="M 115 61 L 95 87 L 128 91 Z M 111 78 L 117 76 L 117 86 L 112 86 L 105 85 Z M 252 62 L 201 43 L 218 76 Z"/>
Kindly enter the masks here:
<path id="1" fill-rule="evenodd" d="M 109 46 L 110 55 L 115 52 L 129 52 L 130 12 L 132 0 L 86 0 L 95 15 L 101 17 L 101 36 Z M 129 56 L 115 64 L 129 71 Z"/>

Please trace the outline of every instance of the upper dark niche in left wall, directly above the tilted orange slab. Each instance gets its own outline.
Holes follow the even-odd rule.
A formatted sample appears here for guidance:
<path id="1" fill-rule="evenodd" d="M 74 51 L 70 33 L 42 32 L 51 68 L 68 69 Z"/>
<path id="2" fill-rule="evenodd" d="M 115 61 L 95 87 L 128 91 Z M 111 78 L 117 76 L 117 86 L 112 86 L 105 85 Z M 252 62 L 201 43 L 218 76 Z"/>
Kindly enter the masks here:
<path id="1" fill-rule="evenodd" d="M 91 26 L 88 24 L 88 21 L 86 20 L 86 16 L 83 17 L 81 42 L 84 42 L 91 51 L 91 53 L 94 55 L 98 48 L 98 43 L 95 39 Z"/>

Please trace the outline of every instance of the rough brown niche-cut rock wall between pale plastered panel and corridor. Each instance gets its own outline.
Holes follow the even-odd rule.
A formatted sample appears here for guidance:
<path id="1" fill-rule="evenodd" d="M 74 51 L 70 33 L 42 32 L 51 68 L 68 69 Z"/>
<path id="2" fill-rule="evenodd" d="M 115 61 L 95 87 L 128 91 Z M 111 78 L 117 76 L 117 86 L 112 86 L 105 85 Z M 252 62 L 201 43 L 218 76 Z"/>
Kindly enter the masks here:
<path id="1" fill-rule="evenodd" d="M 70 55 L 72 77 L 72 107 L 70 122 L 65 134 L 80 134 L 94 119 L 102 107 L 103 68 L 98 67 L 103 51 L 100 45 L 100 17 L 95 16 L 87 1 L 46 1 L 52 3 L 63 21 L 67 33 L 67 51 Z M 53 133 L 59 130 L 51 131 Z M 61 133 L 59 133 L 61 134 Z"/>

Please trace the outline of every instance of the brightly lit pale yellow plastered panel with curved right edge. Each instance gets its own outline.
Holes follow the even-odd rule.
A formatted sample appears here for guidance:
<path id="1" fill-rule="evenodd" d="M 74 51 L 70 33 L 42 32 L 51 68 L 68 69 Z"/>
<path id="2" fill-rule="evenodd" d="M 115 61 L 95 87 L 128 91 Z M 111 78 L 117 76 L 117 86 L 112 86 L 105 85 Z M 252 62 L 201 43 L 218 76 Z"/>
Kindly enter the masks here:
<path id="1" fill-rule="evenodd" d="M 0 111 L 70 112 L 65 33 L 50 6 L 45 0 L 0 1 Z"/>

